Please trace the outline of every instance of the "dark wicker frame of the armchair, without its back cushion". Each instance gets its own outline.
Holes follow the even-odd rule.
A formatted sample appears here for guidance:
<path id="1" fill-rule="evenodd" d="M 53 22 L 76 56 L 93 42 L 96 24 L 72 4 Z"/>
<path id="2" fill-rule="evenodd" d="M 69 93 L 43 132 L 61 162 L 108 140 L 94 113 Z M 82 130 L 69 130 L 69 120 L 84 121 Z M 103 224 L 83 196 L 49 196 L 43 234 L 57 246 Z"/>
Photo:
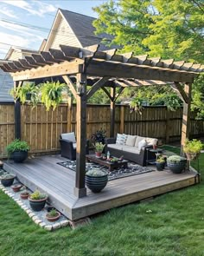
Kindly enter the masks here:
<path id="1" fill-rule="evenodd" d="M 60 137 L 61 156 L 70 160 L 76 160 L 76 143 Z M 86 154 L 89 154 L 89 141 L 86 140 Z"/>

